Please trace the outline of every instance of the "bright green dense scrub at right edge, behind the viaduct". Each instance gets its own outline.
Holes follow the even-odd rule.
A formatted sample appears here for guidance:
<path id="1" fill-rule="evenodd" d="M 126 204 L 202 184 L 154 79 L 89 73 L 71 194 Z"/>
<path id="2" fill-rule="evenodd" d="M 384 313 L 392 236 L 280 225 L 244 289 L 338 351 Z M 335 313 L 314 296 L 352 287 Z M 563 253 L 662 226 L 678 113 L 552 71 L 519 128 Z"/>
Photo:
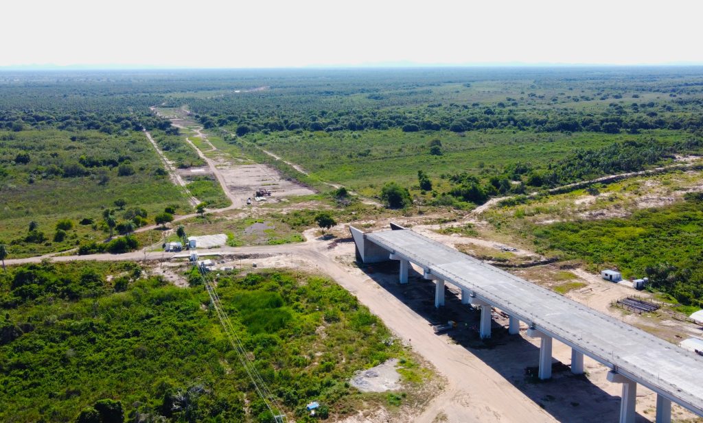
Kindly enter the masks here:
<path id="1" fill-rule="evenodd" d="M 650 288 L 703 307 L 703 197 L 686 198 L 626 218 L 550 224 L 534 235 L 545 248 L 615 266 L 628 278 L 647 276 Z"/>

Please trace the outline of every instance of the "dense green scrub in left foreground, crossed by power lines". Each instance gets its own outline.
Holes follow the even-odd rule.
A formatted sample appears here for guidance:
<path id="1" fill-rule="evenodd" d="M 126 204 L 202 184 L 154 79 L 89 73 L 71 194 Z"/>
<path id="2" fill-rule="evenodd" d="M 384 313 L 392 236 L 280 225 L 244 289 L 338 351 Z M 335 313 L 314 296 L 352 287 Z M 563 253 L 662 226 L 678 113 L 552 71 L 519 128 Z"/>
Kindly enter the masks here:
<path id="1" fill-rule="evenodd" d="M 378 318 L 326 279 L 218 280 L 255 365 L 298 421 L 309 401 L 353 412 L 366 397 L 347 378 L 404 354 Z M 82 410 L 84 419 L 103 410 L 129 422 L 270 422 L 200 279 L 191 282 L 176 288 L 132 263 L 8 268 L 0 275 L 0 419 L 73 422 Z M 406 375 L 417 371 L 404 363 Z"/>

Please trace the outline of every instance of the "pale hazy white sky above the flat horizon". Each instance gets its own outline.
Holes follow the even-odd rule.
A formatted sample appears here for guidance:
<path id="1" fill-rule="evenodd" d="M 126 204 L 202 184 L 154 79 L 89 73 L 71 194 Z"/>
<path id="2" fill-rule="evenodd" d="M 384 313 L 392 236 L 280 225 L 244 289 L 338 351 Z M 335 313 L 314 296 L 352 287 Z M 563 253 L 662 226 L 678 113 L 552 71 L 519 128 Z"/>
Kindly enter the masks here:
<path id="1" fill-rule="evenodd" d="M 0 66 L 703 64 L 697 0 L 5 0 Z"/>

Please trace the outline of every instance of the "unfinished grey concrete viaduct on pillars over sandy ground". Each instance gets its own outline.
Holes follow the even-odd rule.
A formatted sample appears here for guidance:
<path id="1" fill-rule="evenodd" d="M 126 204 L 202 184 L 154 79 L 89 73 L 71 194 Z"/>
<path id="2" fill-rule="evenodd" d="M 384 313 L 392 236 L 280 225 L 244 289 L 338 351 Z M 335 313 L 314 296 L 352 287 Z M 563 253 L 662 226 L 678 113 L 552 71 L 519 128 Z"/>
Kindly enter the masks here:
<path id="1" fill-rule="evenodd" d="M 411 263 L 434 280 L 435 307 L 444 305 L 444 285 L 461 290 L 461 302 L 481 309 L 479 332 L 491 336 L 491 307 L 510 316 L 508 333 L 540 339 L 538 377 L 552 373 L 552 340 L 572 349 L 571 370 L 583 373 L 583 356 L 610 368 L 608 380 L 622 384 L 620 422 L 634 423 L 637 385 L 657 393 L 656 422 L 671 422 L 671 402 L 703 416 L 703 358 L 567 297 L 536 286 L 453 248 L 391 224 L 392 230 L 364 234 L 350 227 L 356 258 L 364 263 L 398 260 L 400 283 Z"/>

